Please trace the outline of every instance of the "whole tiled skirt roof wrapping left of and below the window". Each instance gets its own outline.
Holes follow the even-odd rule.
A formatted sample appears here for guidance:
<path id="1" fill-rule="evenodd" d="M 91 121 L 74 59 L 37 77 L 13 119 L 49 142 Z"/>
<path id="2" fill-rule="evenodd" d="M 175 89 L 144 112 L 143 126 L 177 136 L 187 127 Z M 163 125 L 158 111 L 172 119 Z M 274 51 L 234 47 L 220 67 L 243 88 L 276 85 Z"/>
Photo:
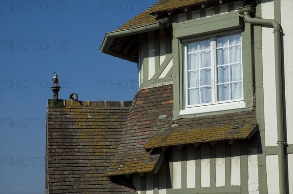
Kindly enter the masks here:
<path id="1" fill-rule="evenodd" d="M 173 85 L 143 89 L 133 102 L 126 129 L 106 175 L 156 171 L 151 148 L 250 138 L 257 130 L 252 110 L 172 120 Z"/>

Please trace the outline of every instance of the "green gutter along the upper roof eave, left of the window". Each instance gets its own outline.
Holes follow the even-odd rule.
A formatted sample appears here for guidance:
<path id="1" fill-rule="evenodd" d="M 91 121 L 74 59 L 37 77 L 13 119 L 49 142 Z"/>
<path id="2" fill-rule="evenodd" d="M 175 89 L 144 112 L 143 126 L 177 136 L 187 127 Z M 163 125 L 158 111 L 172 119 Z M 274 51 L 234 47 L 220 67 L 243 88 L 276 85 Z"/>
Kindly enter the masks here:
<path id="1" fill-rule="evenodd" d="M 165 28 L 165 27 L 167 28 L 170 24 L 171 24 L 170 19 L 164 18 L 164 19 L 157 20 L 155 23 L 146 24 L 146 25 L 135 27 L 135 28 L 129 28 L 126 30 L 108 32 L 105 34 L 105 38 L 104 38 L 103 43 L 101 45 L 100 51 L 102 51 L 103 53 L 112 55 L 114 57 L 122 58 L 122 56 L 120 56 L 120 53 L 118 53 L 116 51 L 110 51 L 110 47 L 111 47 L 114 39 L 119 38 L 119 37 L 137 35 L 137 34 L 149 32 L 149 31 L 153 31 L 153 30 L 157 30 L 157 29 L 161 29 L 161 28 Z M 126 56 L 124 56 L 124 58 L 126 58 Z"/>

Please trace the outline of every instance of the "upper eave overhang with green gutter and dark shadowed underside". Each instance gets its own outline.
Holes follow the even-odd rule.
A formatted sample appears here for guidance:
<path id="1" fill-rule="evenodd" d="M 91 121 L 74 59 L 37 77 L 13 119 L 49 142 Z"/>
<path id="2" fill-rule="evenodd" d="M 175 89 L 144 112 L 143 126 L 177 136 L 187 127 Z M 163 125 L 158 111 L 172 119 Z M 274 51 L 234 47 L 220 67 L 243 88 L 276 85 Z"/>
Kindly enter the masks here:
<path id="1" fill-rule="evenodd" d="M 138 34 L 167 28 L 171 21 L 169 18 L 158 19 L 156 22 L 130 28 L 108 32 L 105 34 L 100 51 L 114 57 L 129 60 L 137 63 L 138 61 Z"/>

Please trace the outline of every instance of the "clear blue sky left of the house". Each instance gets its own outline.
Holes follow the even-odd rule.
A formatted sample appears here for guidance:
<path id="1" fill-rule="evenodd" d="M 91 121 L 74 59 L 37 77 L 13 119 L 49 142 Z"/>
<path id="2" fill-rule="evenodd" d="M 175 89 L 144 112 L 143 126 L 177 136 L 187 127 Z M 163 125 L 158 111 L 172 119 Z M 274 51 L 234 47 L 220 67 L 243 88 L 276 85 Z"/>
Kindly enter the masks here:
<path id="1" fill-rule="evenodd" d="M 46 102 L 132 100 L 136 64 L 99 51 L 155 0 L 0 0 L 0 193 L 44 193 Z M 134 84 L 133 84 L 134 83 Z"/>

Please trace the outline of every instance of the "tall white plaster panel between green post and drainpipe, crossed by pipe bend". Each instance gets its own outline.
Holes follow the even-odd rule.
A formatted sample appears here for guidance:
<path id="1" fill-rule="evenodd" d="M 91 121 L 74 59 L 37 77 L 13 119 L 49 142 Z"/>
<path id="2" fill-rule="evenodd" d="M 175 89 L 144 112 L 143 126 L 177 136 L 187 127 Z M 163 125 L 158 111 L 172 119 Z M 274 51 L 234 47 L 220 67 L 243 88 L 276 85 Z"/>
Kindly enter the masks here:
<path id="1" fill-rule="evenodd" d="M 273 1 L 262 0 L 262 17 L 273 19 Z M 277 120 L 276 120 L 276 89 L 273 29 L 270 26 L 262 27 L 262 57 L 263 57 L 263 90 L 264 90 L 264 116 L 265 116 L 265 144 L 276 146 Z M 258 45 L 258 44 L 257 44 Z"/>

